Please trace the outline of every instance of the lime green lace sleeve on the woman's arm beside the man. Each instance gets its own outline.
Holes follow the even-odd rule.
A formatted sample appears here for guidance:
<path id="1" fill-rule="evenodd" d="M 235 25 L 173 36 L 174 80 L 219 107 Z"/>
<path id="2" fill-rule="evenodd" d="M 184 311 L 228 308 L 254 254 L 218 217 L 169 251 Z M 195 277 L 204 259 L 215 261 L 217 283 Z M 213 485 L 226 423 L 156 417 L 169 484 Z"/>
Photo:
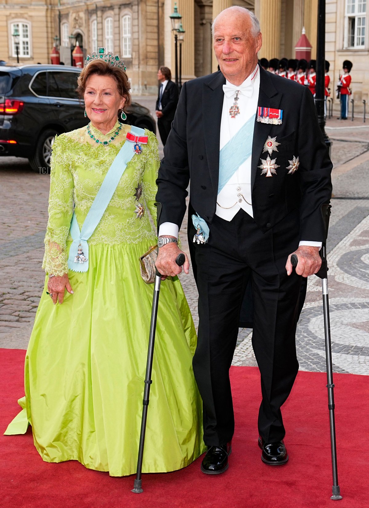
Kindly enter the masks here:
<path id="1" fill-rule="evenodd" d="M 150 212 L 156 228 L 157 207 L 154 205 L 154 203 L 156 201 L 155 196 L 157 194 L 156 179 L 158 178 L 160 165 L 158 148 L 159 143 L 155 134 L 153 134 L 151 131 L 146 130 L 145 134 L 148 136 L 148 143 L 145 158 L 145 168 L 142 176 L 143 196 L 146 200 L 148 211 Z"/>

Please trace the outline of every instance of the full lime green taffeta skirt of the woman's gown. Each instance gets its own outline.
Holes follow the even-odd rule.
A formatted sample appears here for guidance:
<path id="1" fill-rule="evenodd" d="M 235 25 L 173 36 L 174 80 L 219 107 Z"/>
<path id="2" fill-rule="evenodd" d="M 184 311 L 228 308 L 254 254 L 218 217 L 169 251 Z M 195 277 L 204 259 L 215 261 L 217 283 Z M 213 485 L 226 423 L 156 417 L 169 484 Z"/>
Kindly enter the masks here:
<path id="1" fill-rule="evenodd" d="M 136 472 L 153 295 L 138 260 L 148 247 L 90 245 L 88 271 L 69 272 L 74 294 L 62 305 L 46 295 L 46 278 L 25 358 L 24 409 L 6 434 L 29 422 L 47 462 Z M 143 472 L 180 469 L 205 450 L 195 347 L 180 282 L 162 281 Z"/>

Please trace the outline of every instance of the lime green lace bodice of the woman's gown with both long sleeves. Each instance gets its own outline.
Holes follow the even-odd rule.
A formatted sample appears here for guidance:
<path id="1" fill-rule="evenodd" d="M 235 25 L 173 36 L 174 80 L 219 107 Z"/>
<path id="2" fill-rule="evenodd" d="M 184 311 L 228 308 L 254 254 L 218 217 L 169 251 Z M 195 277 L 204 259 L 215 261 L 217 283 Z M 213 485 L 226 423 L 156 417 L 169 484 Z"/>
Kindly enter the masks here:
<path id="1" fill-rule="evenodd" d="M 105 141 L 114 135 L 117 127 L 118 122 L 105 136 L 93 127 L 91 132 L 97 139 Z M 86 127 L 55 137 L 42 265 L 46 273 L 63 275 L 68 272 L 66 248 L 67 242 L 72 239 L 69 229 L 73 203 L 81 229 L 111 163 L 126 142 L 129 130 L 129 125 L 123 125 L 119 136 L 108 146 L 91 140 Z M 145 131 L 145 135 L 148 143 L 141 145 L 142 153 L 134 154 L 128 163 L 99 225 L 88 240 L 90 245 L 156 241 L 153 224 L 156 225 L 157 214 L 154 203 L 159 169 L 158 140 L 150 131 Z"/>

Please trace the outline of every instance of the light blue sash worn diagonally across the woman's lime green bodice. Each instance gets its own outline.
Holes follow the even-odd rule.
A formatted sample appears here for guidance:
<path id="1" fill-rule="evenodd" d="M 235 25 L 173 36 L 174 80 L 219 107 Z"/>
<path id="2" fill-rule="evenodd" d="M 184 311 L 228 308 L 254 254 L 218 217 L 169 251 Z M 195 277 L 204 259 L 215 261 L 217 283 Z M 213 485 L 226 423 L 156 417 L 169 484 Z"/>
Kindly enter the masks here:
<path id="1" fill-rule="evenodd" d="M 131 127 L 131 132 L 135 136 L 143 136 L 145 134 L 144 129 L 139 127 Z M 88 238 L 94 233 L 97 225 L 99 224 L 101 217 L 110 203 L 111 198 L 115 192 L 115 189 L 119 183 L 122 174 L 127 168 L 127 164 L 131 161 L 135 155 L 133 150 L 133 143 L 126 140 L 125 144 L 120 148 L 114 161 L 112 162 L 108 172 L 105 175 L 104 181 L 101 184 L 99 192 L 88 210 L 87 216 L 84 219 L 81 231 L 79 231 L 76 214 L 73 212 L 70 233 L 73 238 L 73 243 L 69 250 L 68 268 L 74 272 L 86 272 L 88 270 Z M 83 255 L 87 258 L 83 263 L 75 263 L 75 257 L 78 254 L 78 247 L 81 245 Z"/>

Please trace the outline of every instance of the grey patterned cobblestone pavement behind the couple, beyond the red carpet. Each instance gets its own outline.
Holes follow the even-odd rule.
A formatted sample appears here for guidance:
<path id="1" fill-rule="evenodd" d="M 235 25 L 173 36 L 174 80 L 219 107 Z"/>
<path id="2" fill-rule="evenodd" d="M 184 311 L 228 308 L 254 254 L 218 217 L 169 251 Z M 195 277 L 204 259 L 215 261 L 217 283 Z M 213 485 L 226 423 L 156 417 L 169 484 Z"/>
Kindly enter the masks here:
<path id="1" fill-rule="evenodd" d="M 155 98 L 136 98 L 152 111 Z M 369 125 L 331 119 L 333 195 L 328 283 L 334 370 L 369 374 Z M 162 145 L 160 143 L 162 152 Z M 0 347 L 25 348 L 43 289 L 49 177 L 26 160 L 0 157 Z M 188 251 L 187 219 L 181 228 Z M 197 290 L 182 275 L 195 324 Z M 233 365 L 256 365 L 252 330 L 240 329 Z M 325 370 L 321 282 L 311 277 L 296 337 L 300 369 Z"/>

